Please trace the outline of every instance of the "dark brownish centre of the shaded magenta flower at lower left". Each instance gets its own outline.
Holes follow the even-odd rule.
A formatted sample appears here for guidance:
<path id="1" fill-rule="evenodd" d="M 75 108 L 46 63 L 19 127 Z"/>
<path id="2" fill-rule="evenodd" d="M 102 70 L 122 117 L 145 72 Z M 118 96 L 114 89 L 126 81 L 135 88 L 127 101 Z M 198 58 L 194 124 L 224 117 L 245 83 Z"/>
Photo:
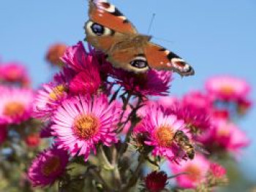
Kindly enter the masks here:
<path id="1" fill-rule="evenodd" d="M 48 159 L 45 164 L 42 166 L 42 174 L 48 177 L 50 174 L 58 171 L 61 166 L 61 160 L 59 156 L 53 156 Z"/>

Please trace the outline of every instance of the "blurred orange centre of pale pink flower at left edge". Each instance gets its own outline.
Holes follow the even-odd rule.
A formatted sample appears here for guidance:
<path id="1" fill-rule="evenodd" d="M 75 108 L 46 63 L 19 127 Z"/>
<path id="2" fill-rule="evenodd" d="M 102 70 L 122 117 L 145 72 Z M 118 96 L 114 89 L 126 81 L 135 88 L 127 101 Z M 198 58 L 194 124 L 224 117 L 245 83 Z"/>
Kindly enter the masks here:
<path id="1" fill-rule="evenodd" d="M 25 112 L 25 107 L 22 103 L 18 101 L 11 101 L 7 103 L 4 107 L 4 115 L 14 117 L 17 115 L 22 115 Z"/>

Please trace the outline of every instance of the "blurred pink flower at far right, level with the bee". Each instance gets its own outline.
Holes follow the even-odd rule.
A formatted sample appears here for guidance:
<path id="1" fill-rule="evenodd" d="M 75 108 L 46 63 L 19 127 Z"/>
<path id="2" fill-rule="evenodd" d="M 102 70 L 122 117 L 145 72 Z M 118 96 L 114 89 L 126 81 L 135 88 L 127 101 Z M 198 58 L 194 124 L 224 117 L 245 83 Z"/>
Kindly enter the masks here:
<path id="1" fill-rule="evenodd" d="M 238 155 L 243 147 L 249 145 L 249 139 L 244 131 L 241 131 L 235 124 L 224 120 L 214 120 L 214 130 L 211 133 L 212 144 Z"/>

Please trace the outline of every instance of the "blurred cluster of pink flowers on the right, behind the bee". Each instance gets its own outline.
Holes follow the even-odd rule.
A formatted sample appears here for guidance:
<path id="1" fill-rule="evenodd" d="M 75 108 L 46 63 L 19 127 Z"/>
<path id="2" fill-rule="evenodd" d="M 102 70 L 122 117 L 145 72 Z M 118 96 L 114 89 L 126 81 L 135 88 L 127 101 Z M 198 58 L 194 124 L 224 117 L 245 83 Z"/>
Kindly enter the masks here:
<path id="1" fill-rule="evenodd" d="M 238 86 L 237 86 L 238 85 Z M 232 93 L 227 91 L 232 91 Z M 251 107 L 249 85 L 234 77 L 212 77 L 206 82 L 206 91 L 192 91 L 182 99 L 168 97 L 159 103 L 184 118 L 187 128 L 195 133 L 195 142 L 203 146 L 192 161 L 182 161 L 180 165 L 170 164 L 176 177 L 178 188 L 212 188 L 227 184 L 225 168 L 211 162 L 208 158 L 226 159 L 227 155 L 238 158 L 242 149 L 249 145 L 246 133 L 238 127 L 235 120 L 241 118 Z M 241 101 L 246 107 L 241 112 Z"/>

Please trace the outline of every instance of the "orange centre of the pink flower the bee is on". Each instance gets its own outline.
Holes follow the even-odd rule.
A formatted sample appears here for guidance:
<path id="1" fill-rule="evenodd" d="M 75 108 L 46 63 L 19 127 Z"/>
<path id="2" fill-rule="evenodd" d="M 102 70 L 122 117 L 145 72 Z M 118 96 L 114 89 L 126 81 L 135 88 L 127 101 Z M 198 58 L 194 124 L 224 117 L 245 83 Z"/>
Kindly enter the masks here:
<path id="1" fill-rule="evenodd" d="M 173 143 L 174 133 L 169 126 L 161 126 L 157 129 L 157 140 L 162 147 L 170 147 Z"/>

